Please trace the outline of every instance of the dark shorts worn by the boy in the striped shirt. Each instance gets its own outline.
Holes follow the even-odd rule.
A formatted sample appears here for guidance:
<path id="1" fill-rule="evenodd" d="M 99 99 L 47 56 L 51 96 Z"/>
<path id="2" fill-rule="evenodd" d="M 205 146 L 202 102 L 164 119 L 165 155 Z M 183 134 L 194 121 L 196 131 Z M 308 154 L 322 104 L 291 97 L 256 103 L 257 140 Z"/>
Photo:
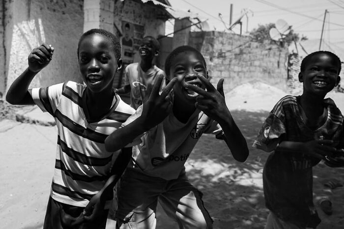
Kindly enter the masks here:
<path id="1" fill-rule="evenodd" d="M 108 209 L 95 222 L 81 223 L 84 207 L 60 203 L 49 197 L 43 229 L 105 229 Z M 79 217 L 79 218 L 78 218 Z"/>

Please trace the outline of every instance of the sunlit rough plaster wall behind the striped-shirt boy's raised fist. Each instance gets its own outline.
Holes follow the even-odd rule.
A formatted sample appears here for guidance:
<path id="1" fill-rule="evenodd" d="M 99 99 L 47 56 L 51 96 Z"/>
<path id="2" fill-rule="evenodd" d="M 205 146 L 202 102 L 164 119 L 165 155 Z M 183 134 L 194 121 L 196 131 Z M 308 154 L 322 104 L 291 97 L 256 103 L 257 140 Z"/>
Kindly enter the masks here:
<path id="1" fill-rule="evenodd" d="M 36 75 L 30 87 L 44 87 L 67 80 L 81 82 L 77 45 L 83 33 L 83 0 L 5 2 L 6 88 L 27 68 L 30 51 L 43 42 L 55 48 L 53 60 Z"/>

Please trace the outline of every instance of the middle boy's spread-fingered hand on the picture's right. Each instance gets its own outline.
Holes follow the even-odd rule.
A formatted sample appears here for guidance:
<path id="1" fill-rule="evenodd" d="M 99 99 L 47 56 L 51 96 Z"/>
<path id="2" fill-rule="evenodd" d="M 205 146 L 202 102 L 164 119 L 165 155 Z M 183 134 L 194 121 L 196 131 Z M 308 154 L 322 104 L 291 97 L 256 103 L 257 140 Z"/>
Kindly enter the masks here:
<path id="1" fill-rule="evenodd" d="M 228 120 L 230 116 L 229 109 L 226 105 L 225 94 L 223 90 L 224 79 L 220 79 L 217 83 L 217 89 L 209 82 L 207 78 L 198 74 L 199 79 L 205 85 L 207 91 L 200 87 L 186 83 L 186 87 L 198 93 L 200 96 L 196 98 L 196 108 L 203 111 L 208 117 L 222 123 Z"/>

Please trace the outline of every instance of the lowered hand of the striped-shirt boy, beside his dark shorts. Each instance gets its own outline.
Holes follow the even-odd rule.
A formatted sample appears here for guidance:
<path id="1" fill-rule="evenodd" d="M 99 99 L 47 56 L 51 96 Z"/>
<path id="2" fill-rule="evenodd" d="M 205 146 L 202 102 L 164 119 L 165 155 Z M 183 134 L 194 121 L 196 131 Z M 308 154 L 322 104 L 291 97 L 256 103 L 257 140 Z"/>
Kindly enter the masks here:
<path id="1" fill-rule="evenodd" d="M 104 211 L 106 199 L 101 191 L 94 195 L 84 209 L 84 220 L 94 222 Z"/>

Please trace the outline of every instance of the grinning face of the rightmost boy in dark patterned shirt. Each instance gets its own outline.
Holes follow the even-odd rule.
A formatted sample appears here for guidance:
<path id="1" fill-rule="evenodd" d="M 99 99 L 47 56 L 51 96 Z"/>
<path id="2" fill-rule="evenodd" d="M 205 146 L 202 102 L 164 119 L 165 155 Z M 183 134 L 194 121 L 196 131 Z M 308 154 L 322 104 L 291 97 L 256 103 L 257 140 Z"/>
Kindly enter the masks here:
<path id="1" fill-rule="evenodd" d="M 299 81 L 303 82 L 304 92 L 324 96 L 338 85 L 338 65 L 335 59 L 325 53 L 313 56 L 299 73 Z"/>

